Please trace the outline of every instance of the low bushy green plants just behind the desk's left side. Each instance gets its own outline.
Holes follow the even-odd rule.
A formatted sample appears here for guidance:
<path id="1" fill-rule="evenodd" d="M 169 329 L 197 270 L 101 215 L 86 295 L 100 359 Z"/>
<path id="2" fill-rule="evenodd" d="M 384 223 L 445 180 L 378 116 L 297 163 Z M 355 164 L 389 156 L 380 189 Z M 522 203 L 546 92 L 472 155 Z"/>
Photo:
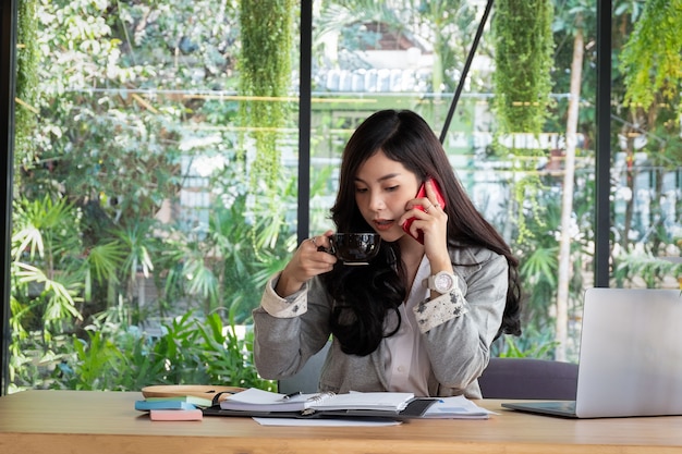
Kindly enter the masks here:
<path id="1" fill-rule="evenodd" d="M 102 315 L 73 338 L 50 388 L 135 391 L 151 384 L 226 384 L 272 390 L 253 367 L 253 333 L 238 336 L 234 324 L 223 326 L 218 315 L 205 319 L 193 312 L 162 324 L 150 336 L 126 326 L 113 312 Z M 123 317 L 125 318 L 125 317 Z"/>

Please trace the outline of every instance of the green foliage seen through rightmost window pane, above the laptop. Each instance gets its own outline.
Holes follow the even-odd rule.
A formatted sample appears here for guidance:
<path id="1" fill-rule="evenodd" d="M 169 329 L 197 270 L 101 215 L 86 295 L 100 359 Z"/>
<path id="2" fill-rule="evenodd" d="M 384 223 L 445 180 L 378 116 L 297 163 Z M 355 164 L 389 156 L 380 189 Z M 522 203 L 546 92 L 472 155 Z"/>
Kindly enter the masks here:
<path id="1" fill-rule="evenodd" d="M 624 180 L 628 192 L 617 203 L 625 205 L 622 232 L 616 241 L 622 254 L 614 267 L 618 285 L 644 282 L 657 286 L 661 279 L 682 275 L 681 267 L 660 260 L 660 256 L 680 255 L 682 231 L 671 226 L 679 213 L 670 210 L 671 204 L 680 204 L 680 195 L 666 188 L 667 176 L 680 179 L 682 138 L 680 132 L 680 83 L 682 82 L 682 1 L 650 0 L 642 5 L 632 35 L 620 54 L 619 69 L 623 74 L 624 88 L 620 94 L 626 121 L 619 125 L 621 143 L 624 144 Z M 640 176 L 637 161 L 646 156 L 650 165 L 648 179 L 653 182 L 653 222 L 645 235 L 636 233 L 637 216 L 635 182 Z M 617 194 L 619 195 L 619 194 Z M 677 197 L 675 197 L 677 196 Z M 635 244 L 631 238 L 636 238 Z M 682 285 L 682 278 L 678 278 Z"/>

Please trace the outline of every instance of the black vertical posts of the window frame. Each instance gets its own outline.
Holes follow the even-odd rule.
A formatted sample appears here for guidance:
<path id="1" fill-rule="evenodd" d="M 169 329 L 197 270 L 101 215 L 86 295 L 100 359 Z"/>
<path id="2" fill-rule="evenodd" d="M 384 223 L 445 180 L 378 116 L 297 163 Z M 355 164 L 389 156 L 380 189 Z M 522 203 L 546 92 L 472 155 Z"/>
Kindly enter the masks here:
<path id="1" fill-rule="evenodd" d="M 488 0 L 492 1 L 492 0 Z M 5 144 L 1 171 L 5 184 L 2 186 L 1 209 L 4 235 L 1 247 L 2 296 L 0 304 L 0 395 L 9 388 L 10 342 L 10 249 L 12 222 L 12 186 L 14 157 L 14 94 L 15 94 L 15 47 L 19 0 L 0 3 L 0 143 Z M 308 236 L 309 224 L 309 164 L 310 164 L 310 49 L 313 27 L 313 0 L 301 2 L 301 98 L 300 98 L 300 162 L 299 162 L 299 231 L 301 242 Z M 609 286 L 609 231 L 610 231 L 610 75 L 611 75 L 611 28 L 612 1 L 597 1 L 597 144 L 596 144 L 596 195 L 595 195 L 595 285 Z"/>

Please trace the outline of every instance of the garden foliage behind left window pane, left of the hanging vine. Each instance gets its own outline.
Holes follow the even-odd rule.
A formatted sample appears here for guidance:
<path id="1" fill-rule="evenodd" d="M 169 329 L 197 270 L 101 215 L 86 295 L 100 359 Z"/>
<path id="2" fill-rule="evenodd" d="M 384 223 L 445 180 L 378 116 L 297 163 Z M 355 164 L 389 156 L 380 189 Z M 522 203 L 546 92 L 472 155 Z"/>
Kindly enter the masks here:
<path id="1" fill-rule="evenodd" d="M 230 165 L 239 159 L 235 127 L 224 127 L 234 122 L 234 103 L 217 106 L 196 88 L 203 79 L 212 88 L 231 83 L 236 14 L 226 10 L 229 3 L 209 7 L 175 2 L 168 15 L 162 4 L 54 1 L 29 17 L 40 54 L 38 85 L 27 91 L 40 95 L 40 121 L 32 131 L 35 154 L 19 152 L 15 170 L 23 176 L 12 235 L 10 372 L 16 389 L 84 389 L 88 378 L 119 367 L 135 373 L 130 361 L 162 366 L 136 380 L 191 382 L 210 366 L 207 355 L 220 353 L 232 370 L 211 376 L 214 382 L 271 385 L 248 364 L 249 334 L 238 340 L 230 331 L 244 322 L 257 298 L 253 289 L 279 268 L 277 247 L 284 246 L 246 218 L 244 176 Z M 199 120 L 219 127 L 194 127 Z M 216 196 L 198 229 L 173 219 L 173 211 L 186 168 L 198 161 L 206 170 L 211 155 L 220 162 L 209 172 Z M 260 225 L 269 224 L 266 217 Z M 239 240 L 248 234 L 272 245 L 261 255 L 266 261 Z M 145 304 L 149 289 L 156 292 L 151 305 Z M 190 314 L 182 329 L 168 321 Z M 216 314 L 226 320 L 221 340 L 200 330 Z M 179 349 L 187 330 L 194 342 L 208 343 L 194 365 L 183 356 L 191 352 Z M 125 389 L 139 381 L 121 376 L 112 383 L 89 386 Z"/>

